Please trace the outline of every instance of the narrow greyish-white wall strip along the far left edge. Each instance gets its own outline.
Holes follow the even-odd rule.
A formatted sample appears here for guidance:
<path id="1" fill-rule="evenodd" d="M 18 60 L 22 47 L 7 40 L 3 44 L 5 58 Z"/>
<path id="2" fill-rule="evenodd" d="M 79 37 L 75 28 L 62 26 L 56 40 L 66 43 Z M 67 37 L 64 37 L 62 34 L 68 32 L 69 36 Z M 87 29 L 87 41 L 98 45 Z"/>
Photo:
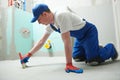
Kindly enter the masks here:
<path id="1" fill-rule="evenodd" d="M 0 60 L 4 59 L 6 54 L 6 26 L 7 26 L 7 0 L 0 0 Z"/>

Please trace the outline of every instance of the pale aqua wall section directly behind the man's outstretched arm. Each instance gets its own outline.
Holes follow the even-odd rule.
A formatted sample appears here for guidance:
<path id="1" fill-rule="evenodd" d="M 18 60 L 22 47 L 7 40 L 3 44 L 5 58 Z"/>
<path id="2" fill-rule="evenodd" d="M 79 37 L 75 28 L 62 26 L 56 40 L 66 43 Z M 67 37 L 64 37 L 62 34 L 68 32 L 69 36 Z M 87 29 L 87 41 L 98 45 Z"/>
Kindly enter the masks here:
<path id="1" fill-rule="evenodd" d="M 38 24 L 38 22 L 33 23 L 33 39 L 34 44 L 37 43 L 39 39 L 43 36 L 45 32 L 45 25 Z M 50 40 L 51 48 L 47 49 L 45 44 Z M 53 32 L 48 38 L 44 46 L 35 54 L 35 56 L 63 56 L 64 46 L 61 39 L 61 35 L 57 32 Z"/>

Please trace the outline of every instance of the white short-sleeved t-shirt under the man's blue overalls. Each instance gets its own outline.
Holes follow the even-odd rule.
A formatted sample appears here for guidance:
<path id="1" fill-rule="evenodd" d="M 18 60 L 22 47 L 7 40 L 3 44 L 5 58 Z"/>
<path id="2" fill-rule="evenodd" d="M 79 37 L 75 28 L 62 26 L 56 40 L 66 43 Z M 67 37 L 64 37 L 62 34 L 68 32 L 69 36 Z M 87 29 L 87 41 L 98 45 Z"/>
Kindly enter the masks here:
<path id="1" fill-rule="evenodd" d="M 79 30 L 83 28 L 85 24 L 86 22 L 74 13 L 68 11 L 54 13 L 54 26 L 57 29 L 60 28 L 61 33 Z M 50 27 L 50 25 L 46 27 L 46 32 L 53 32 L 53 29 Z"/>

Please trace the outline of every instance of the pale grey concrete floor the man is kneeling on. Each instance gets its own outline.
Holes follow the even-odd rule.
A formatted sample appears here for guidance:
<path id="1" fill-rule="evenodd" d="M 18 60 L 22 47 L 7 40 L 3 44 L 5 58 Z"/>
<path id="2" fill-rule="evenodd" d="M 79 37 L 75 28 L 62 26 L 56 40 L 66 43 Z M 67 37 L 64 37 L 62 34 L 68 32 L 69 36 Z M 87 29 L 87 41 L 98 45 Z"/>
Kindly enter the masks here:
<path id="1" fill-rule="evenodd" d="M 120 59 L 99 66 L 73 63 L 84 73 L 66 73 L 65 57 L 31 57 L 26 69 L 19 60 L 0 61 L 0 80 L 120 80 Z"/>

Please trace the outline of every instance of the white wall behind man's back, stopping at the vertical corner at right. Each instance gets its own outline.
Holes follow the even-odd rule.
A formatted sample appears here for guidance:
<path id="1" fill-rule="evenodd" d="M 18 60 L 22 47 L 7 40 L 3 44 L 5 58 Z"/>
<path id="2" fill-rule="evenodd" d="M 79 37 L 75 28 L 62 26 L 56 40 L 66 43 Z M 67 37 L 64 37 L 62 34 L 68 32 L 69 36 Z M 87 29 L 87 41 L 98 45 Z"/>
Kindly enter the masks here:
<path id="1" fill-rule="evenodd" d="M 108 42 L 116 44 L 112 1 L 103 0 L 103 2 L 101 2 L 100 0 L 94 0 L 96 1 L 94 4 L 91 2 L 87 5 L 85 1 L 88 0 L 85 0 L 83 2 L 85 5 L 79 5 L 82 1 L 83 0 L 70 0 L 68 6 L 76 14 L 86 18 L 97 26 L 100 44 L 105 45 Z"/>

